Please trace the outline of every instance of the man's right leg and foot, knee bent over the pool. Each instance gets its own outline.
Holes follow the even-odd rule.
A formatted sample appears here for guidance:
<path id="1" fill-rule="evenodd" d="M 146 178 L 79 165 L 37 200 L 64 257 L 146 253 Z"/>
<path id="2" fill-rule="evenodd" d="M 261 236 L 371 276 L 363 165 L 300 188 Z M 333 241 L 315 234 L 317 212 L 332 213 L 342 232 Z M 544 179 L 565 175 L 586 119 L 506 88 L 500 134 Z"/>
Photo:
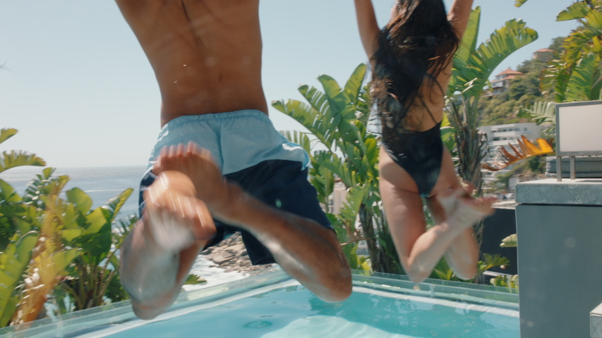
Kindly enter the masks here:
<path id="1" fill-rule="evenodd" d="M 287 273 L 320 299 L 342 301 L 351 294 L 351 271 L 332 230 L 267 206 L 229 184 L 210 154 L 194 144 L 163 151 L 155 172 L 166 170 L 191 177 L 197 198 L 214 218 L 253 234 Z"/>

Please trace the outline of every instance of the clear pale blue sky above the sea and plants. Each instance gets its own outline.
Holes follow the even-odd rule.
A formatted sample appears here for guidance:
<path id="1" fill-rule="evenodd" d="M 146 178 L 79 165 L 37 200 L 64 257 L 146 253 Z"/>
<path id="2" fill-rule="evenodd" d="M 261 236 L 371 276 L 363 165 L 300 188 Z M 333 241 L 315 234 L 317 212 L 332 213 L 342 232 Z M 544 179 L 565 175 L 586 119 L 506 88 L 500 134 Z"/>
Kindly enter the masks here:
<path id="1" fill-rule="evenodd" d="M 385 25 L 394 0 L 373 0 Z M 159 89 L 136 37 L 111 0 L 0 1 L 0 128 L 19 130 L 0 144 L 37 154 L 55 168 L 145 165 L 159 125 Z M 475 0 L 479 42 L 522 18 L 539 39 L 493 75 L 516 68 L 577 25 L 555 22 L 571 0 Z M 447 8 L 452 0 L 445 0 Z M 340 84 L 367 57 L 350 0 L 261 0 L 263 86 L 269 102 L 300 99 L 318 75 Z M 277 130 L 303 130 L 270 107 Z"/>

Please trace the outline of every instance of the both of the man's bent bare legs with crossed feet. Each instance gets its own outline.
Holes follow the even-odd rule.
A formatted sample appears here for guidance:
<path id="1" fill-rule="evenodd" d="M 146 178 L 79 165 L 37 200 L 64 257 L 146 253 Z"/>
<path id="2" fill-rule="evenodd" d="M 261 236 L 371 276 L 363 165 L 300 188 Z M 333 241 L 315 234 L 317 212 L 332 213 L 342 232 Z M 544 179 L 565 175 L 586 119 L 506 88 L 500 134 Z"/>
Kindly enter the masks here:
<path id="1" fill-rule="evenodd" d="M 155 318 L 173 303 L 196 256 L 216 232 L 212 216 L 253 234 L 320 299 L 343 301 L 351 294 L 351 271 L 335 233 L 229 184 L 208 151 L 170 147 L 162 151 L 154 172 L 157 180 L 144 192 L 145 217 L 121 255 L 122 282 L 139 318 Z M 162 223 L 191 229 L 195 242 L 175 252 L 162 247 L 150 230 Z"/>

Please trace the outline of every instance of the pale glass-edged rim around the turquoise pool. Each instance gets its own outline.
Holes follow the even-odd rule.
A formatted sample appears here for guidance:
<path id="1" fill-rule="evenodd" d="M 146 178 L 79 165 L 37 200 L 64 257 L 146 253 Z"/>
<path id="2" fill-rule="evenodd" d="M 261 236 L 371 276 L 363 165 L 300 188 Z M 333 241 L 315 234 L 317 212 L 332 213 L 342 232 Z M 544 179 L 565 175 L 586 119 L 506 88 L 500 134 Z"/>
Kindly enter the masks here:
<path id="1" fill-rule="evenodd" d="M 426 280 L 416 284 L 407 276 L 354 271 L 354 288 L 362 287 L 376 292 L 395 292 L 409 296 L 464 302 L 475 306 L 488 306 L 507 311 L 518 311 L 518 294 L 505 287 L 493 287 L 463 282 Z M 183 309 L 198 308 L 249 292 L 265 292 L 266 288 L 282 287 L 295 282 L 284 271 L 273 271 L 247 277 L 243 280 L 218 284 L 205 289 L 182 292 L 167 313 L 156 319 L 171 316 Z M 191 310 L 192 311 L 192 310 Z M 100 331 L 116 324 L 136 321 L 130 301 L 98 306 L 66 315 L 53 316 L 31 323 L 4 327 L 0 338 L 96 337 Z M 142 321 L 140 321 L 142 322 Z M 145 322 L 142 322 L 145 323 Z M 130 326 L 130 325 L 128 325 Z"/>

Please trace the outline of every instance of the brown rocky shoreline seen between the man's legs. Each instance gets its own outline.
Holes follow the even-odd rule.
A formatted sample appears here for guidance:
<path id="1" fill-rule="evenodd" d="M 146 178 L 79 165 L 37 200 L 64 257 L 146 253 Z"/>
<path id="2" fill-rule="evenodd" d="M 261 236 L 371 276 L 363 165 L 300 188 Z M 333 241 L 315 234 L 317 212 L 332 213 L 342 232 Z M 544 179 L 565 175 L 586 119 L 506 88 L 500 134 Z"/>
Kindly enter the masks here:
<path id="1" fill-rule="evenodd" d="M 204 250 L 201 255 L 215 263 L 212 267 L 223 268 L 227 273 L 236 271 L 245 275 L 257 275 L 277 266 L 277 264 L 252 265 L 239 232 L 217 246 Z"/>

